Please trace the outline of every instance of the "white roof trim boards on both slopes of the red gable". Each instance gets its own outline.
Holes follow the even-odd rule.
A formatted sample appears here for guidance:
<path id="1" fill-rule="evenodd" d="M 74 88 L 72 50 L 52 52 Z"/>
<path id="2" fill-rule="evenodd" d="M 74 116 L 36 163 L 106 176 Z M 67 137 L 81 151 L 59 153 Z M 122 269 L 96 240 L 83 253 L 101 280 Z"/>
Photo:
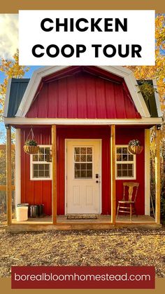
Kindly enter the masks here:
<path id="1" fill-rule="evenodd" d="M 43 67 L 37 69 L 34 74 L 31 76 L 27 89 L 24 93 L 22 101 L 20 103 L 19 108 L 17 109 L 17 113 L 15 116 L 24 117 L 26 116 L 31 103 L 34 99 L 36 91 L 38 89 L 39 84 L 41 83 L 41 79 L 43 77 L 48 76 L 52 73 L 59 72 L 62 69 L 66 69 L 69 66 L 53 66 L 53 67 Z M 145 101 L 143 100 L 143 96 L 141 93 L 138 93 L 138 83 L 134 78 L 134 74 L 125 67 L 112 67 L 112 66 L 98 66 L 101 69 L 104 69 L 107 72 L 120 76 L 124 79 L 131 94 L 131 98 L 134 101 L 136 109 L 141 114 L 142 117 L 150 117 L 150 112 L 148 111 L 148 107 L 145 105 Z"/>

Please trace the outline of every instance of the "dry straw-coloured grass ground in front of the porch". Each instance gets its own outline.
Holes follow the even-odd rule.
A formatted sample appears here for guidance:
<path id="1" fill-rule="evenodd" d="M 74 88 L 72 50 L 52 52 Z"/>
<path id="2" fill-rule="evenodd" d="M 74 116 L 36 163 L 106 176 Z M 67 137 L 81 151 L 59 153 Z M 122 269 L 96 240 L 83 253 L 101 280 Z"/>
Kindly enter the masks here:
<path id="1" fill-rule="evenodd" d="M 1 277 L 12 265 L 152 265 L 165 277 L 164 228 L 11 234 L 1 227 L 0 250 Z"/>

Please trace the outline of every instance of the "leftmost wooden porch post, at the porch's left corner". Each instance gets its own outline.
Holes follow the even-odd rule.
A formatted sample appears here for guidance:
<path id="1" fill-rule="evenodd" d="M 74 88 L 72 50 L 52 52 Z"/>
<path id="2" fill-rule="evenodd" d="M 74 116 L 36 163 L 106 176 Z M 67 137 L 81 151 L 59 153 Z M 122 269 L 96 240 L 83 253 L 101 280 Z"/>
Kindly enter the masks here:
<path id="1" fill-rule="evenodd" d="M 11 126 L 6 126 L 6 209 L 7 225 L 12 223 L 12 187 L 11 187 Z"/>

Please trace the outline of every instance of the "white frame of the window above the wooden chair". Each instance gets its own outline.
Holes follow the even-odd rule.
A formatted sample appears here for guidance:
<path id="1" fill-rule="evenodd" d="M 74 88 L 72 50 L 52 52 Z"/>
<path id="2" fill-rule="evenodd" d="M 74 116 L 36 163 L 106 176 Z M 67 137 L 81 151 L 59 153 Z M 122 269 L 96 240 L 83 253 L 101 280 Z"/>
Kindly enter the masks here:
<path id="1" fill-rule="evenodd" d="M 117 148 L 124 148 L 124 147 L 129 147 L 129 145 L 115 145 L 115 179 L 116 180 L 136 180 L 136 155 L 132 154 L 134 156 L 134 161 L 117 161 Z M 134 177 L 117 177 L 117 164 L 120 163 L 133 163 L 134 165 Z"/>

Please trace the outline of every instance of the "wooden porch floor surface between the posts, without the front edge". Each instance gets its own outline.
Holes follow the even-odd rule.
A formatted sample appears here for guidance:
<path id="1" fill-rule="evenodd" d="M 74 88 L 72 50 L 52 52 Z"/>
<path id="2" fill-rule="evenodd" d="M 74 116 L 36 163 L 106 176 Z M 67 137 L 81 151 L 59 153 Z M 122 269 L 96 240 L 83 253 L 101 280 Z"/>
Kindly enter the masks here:
<path id="1" fill-rule="evenodd" d="M 110 215 L 98 215 L 96 219 L 66 219 L 65 215 L 57 215 L 57 224 L 110 224 L 111 218 Z M 116 223 L 153 223 L 155 218 L 152 218 L 150 215 L 133 215 L 132 222 L 130 221 L 129 215 L 119 215 L 116 218 Z M 18 222 L 16 219 L 12 220 L 12 225 L 29 225 L 29 224 L 48 224 L 52 223 L 51 216 L 44 216 L 43 218 L 29 218 L 26 221 Z"/>

